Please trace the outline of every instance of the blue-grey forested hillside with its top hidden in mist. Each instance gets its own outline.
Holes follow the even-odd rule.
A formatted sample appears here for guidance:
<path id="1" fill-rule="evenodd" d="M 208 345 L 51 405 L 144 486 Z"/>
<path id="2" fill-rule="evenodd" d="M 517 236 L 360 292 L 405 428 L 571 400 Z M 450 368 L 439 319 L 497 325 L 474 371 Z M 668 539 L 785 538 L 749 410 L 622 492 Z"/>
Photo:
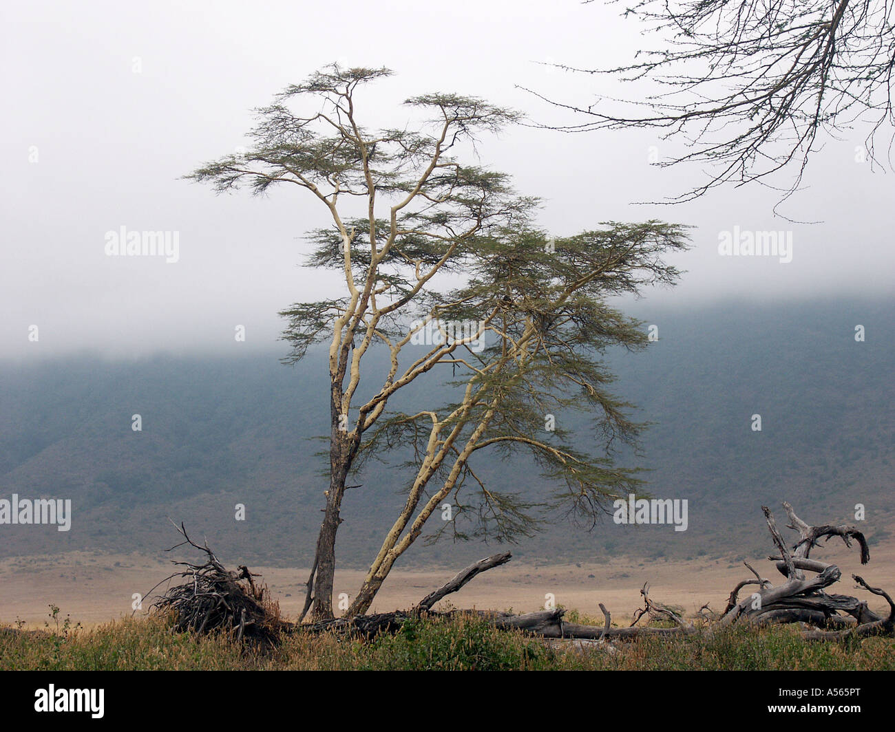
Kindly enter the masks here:
<path id="1" fill-rule="evenodd" d="M 550 562 L 762 556 L 760 506 L 779 508 L 783 499 L 808 521 L 852 521 L 863 503 L 868 533 L 884 535 L 895 524 L 893 305 L 729 302 L 660 311 L 638 303 L 632 313 L 644 328 L 657 325 L 661 340 L 644 353 L 607 354 L 616 393 L 639 405 L 638 420 L 653 422 L 639 455 L 624 462 L 651 469 L 652 495 L 689 501 L 688 529 L 607 517 L 585 532 L 549 515 L 549 529 L 514 552 Z M 855 341 L 857 324 L 864 343 Z M 308 565 L 326 488 L 325 462 L 315 455 L 326 446 L 314 438 L 328 432 L 328 375 L 320 353 L 294 368 L 277 361 L 284 353 L 0 364 L 0 498 L 72 498 L 73 506 L 70 532 L 0 526 L 0 555 L 158 554 L 176 543 L 170 516 L 205 534 L 229 565 Z M 438 405 L 446 396 L 429 381 L 407 398 Z M 141 432 L 131 429 L 135 413 Z M 751 430 L 754 413 L 761 432 Z M 588 445 L 582 416 L 558 419 Z M 524 460 L 478 468 L 496 489 L 547 491 Z M 378 549 L 402 502 L 403 474 L 371 464 L 362 488 L 347 492 L 337 554 L 345 565 L 365 566 Z M 234 520 L 237 503 L 244 522 Z M 456 566 L 486 551 L 418 542 L 400 566 Z"/>

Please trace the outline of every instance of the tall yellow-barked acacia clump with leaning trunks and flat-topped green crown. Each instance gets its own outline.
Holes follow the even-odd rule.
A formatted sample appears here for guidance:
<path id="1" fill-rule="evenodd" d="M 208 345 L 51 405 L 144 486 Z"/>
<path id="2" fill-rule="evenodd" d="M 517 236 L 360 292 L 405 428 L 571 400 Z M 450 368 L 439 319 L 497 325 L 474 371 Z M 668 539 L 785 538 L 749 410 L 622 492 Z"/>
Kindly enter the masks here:
<path id="1" fill-rule="evenodd" d="M 281 313 L 292 345 L 287 362 L 329 344 L 329 484 L 302 614 L 310 608 L 315 620 L 333 614 L 346 482 L 390 447 L 413 449 L 413 474 L 349 615 L 370 608 L 449 495 L 461 509 L 475 502 L 480 535 L 512 540 L 533 530 L 535 504 L 489 489 L 473 471 L 470 459 L 482 451 L 531 452 L 562 486 L 537 506 L 562 503 L 595 518 L 607 498 L 635 489 L 635 470 L 616 466 L 611 450 L 617 440 L 633 442 L 641 426 L 607 391 L 611 375 L 598 355 L 608 345 L 642 347 L 646 338 L 606 298 L 675 282 L 678 270 L 661 254 L 686 247 L 682 227 L 656 221 L 548 239 L 533 226 L 537 200 L 517 195 L 505 174 L 460 159 L 478 133 L 498 132 L 519 115 L 479 98 L 430 94 L 405 102 L 427 115 L 417 129 L 367 130 L 358 89 L 389 74 L 337 65 L 313 74 L 257 110 L 251 149 L 189 176 L 217 192 L 244 185 L 263 194 L 291 183 L 331 219 L 311 232 L 307 263 L 342 273 L 345 292 Z M 295 111 L 302 103 L 315 111 Z M 440 336 L 421 348 L 420 336 L 432 332 Z M 376 347 L 388 350 L 388 372 L 362 394 L 362 375 L 371 377 L 362 360 Z M 448 366 L 456 404 L 387 410 L 401 389 Z M 561 407 L 596 410 L 601 455 L 576 450 L 561 429 L 544 430 L 546 415 Z"/>

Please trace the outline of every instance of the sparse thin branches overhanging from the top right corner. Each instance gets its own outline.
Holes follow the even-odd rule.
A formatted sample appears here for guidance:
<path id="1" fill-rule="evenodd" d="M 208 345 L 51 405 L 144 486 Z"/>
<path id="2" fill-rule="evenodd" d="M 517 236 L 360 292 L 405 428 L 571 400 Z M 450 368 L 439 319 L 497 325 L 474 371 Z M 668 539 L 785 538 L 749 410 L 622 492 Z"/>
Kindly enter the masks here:
<path id="1" fill-rule="evenodd" d="M 895 124 L 893 7 L 889 0 L 641 0 L 624 14 L 661 38 L 656 47 L 638 51 L 632 64 L 563 68 L 659 91 L 588 106 L 548 101 L 584 115 L 560 129 L 651 127 L 665 131 L 663 139 L 685 140 L 685 153 L 657 165 L 708 162 L 713 172 L 674 200 L 723 183 L 764 182 L 789 167 L 795 174 L 785 200 L 822 132 L 836 136 L 865 123 L 867 157 L 880 161 L 874 140 Z"/>

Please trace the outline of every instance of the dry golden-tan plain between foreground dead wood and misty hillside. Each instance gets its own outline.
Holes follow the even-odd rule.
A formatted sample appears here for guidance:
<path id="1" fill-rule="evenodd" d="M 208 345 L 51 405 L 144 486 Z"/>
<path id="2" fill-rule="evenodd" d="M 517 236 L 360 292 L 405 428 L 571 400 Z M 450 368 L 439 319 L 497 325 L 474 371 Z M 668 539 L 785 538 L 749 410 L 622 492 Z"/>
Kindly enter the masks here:
<path id="1" fill-rule="evenodd" d="M 842 579 L 831 592 L 856 594 L 867 600 L 872 609 L 882 611 L 884 601 L 869 592 L 853 589 L 852 574 L 861 575 L 872 586 L 895 592 L 895 538 L 882 540 L 871 548 L 871 561 L 861 566 L 857 548 L 846 549 L 840 540 L 831 540 L 827 547 L 814 549 L 814 558 L 835 562 L 842 570 Z M 780 575 L 763 557 L 749 558 L 750 563 L 772 583 L 780 583 Z M 384 612 L 406 609 L 438 587 L 460 569 L 431 570 L 396 569 L 383 585 L 371 609 Z M 59 556 L 33 556 L 0 560 L 0 623 L 24 621 L 30 627 L 42 627 L 48 606 L 60 608 L 61 617 L 83 626 L 129 615 L 133 594 L 149 592 L 172 567 L 166 559 L 136 554 L 94 554 L 70 552 Z M 279 602 L 286 617 L 297 616 L 303 604 L 303 582 L 307 568 L 251 566 L 263 575 L 272 596 Z M 352 595 L 362 581 L 362 571 L 337 571 L 336 594 Z M 776 576 L 775 576 L 776 575 Z M 624 623 L 637 609 L 640 588 L 650 583 L 654 600 L 677 605 L 687 614 L 695 613 L 705 602 L 721 610 L 733 586 L 751 576 L 746 567 L 726 559 L 693 559 L 689 561 L 644 561 L 619 557 L 600 564 L 537 565 L 517 562 L 496 567 L 479 575 L 463 590 L 448 600 L 458 608 L 513 609 L 529 612 L 544 607 L 548 594 L 558 605 L 598 616 L 598 603 L 609 608 L 613 618 Z M 164 585 L 159 591 L 164 589 Z M 144 608 L 147 603 L 144 603 Z M 139 613 L 138 613 L 139 614 Z"/>

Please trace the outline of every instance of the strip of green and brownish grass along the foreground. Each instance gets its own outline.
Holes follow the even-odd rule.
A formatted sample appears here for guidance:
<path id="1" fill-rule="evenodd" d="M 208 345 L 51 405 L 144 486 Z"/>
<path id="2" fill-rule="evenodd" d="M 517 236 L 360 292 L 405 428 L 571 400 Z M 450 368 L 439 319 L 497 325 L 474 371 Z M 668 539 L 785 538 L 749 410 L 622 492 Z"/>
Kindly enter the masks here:
<path id="1" fill-rule="evenodd" d="M 123 619 L 92 630 L 0 632 L 4 670 L 445 669 L 828 670 L 895 669 L 895 640 L 805 643 L 793 628 L 734 628 L 711 637 L 644 637 L 618 652 L 556 650 L 478 618 L 413 620 L 371 643 L 294 634 L 274 650 L 246 651 L 222 635 L 173 633 L 164 618 Z"/>

